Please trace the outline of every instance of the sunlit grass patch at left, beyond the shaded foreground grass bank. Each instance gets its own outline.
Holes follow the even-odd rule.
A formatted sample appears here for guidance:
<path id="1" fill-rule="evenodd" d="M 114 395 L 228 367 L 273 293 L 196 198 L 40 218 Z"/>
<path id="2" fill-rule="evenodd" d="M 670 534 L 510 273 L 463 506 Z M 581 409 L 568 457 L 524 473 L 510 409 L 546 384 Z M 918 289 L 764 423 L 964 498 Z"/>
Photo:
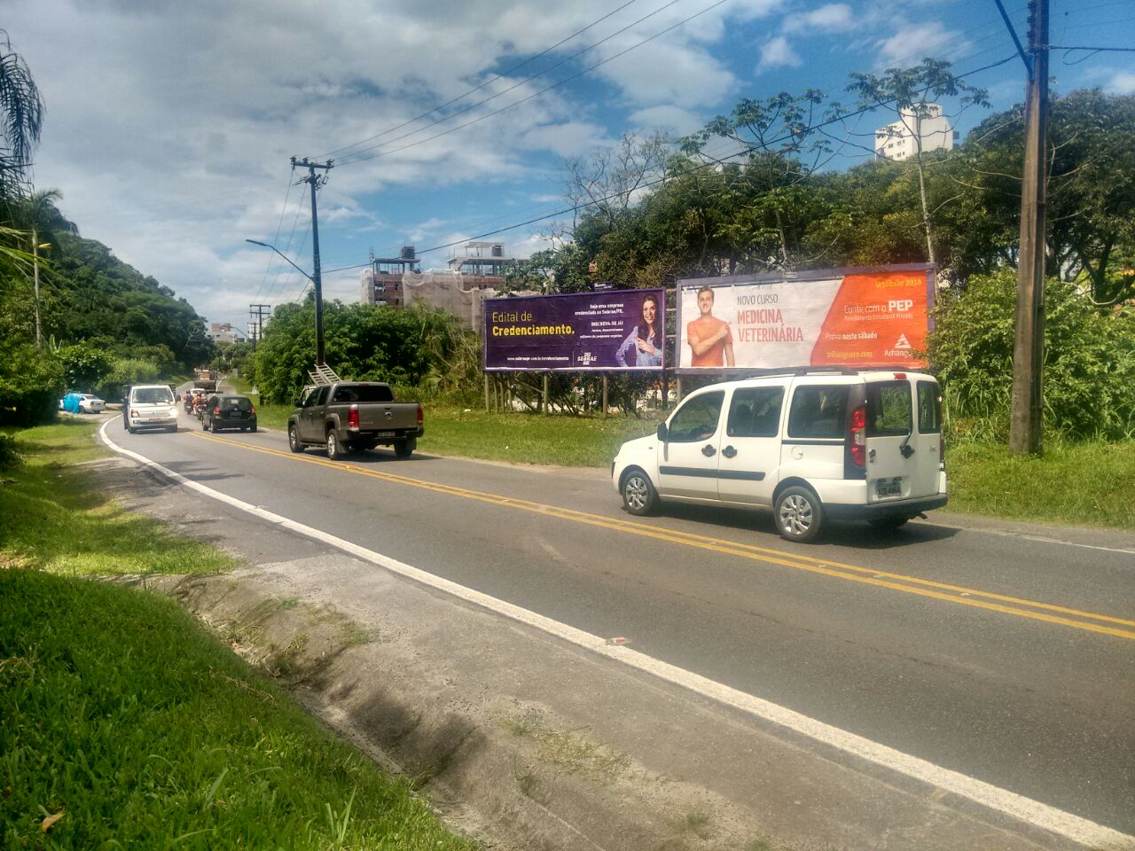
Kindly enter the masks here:
<path id="1" fill-rule="evenodd" d="M 98 423 L 67 421 L 14 433 L 24 463 L 0 483 L 0 568 L 68 575 L 217 573 L 235 562 L 179 538 L 162 523 L 125 511 L 76 466 L 108 455 Z"/>

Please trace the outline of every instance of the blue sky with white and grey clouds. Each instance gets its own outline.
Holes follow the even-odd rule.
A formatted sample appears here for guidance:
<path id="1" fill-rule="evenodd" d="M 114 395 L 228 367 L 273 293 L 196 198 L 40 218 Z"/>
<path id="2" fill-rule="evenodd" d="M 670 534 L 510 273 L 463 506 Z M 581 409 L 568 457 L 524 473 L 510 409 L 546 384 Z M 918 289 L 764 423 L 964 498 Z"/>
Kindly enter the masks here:
<path id="1" fill-rule="evenodd" d="M 1003 2 L 1025 41 L 1026 0 Z M 1135 48 L 1135 0 L 1051 0 L 1050 17 L 1051 44 Z M 565 160 L 625 133 L 678 138 L 782 91 L 850 104 L 850 74 L 926 56 L 976 71 L 993 110 L 1025 78 L 1019 58 L 977 70 L 1016 53 L 994 0 L 5 0 L 0 28 L 47 106 L 35 187 L 242 329 L 250 304 L 310 286 L 244 242 L 311 272 L 292 157 L 334 161 L 317 199 L 323 297 L 353 302 L 370 251 L 414 245 L 423 269 L 445 268 L 504 228 L 482 238 L 510 256 L 547 247 L 570 214 L 512 226 L 568 207 Z M 1050 70 L 1056 92 L 1135 94 L 1133 53 L 1054 51 Z M 859 161 L 847 153 L 831 167 Z"/>

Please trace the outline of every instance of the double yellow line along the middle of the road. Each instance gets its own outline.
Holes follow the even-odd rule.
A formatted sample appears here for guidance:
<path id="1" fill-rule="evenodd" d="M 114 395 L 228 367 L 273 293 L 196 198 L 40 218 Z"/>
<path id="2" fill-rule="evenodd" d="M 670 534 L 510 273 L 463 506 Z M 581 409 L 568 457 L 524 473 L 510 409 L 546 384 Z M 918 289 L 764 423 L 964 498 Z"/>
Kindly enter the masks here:
<path id="1" fill-rule="evenodd" d="M 600 529 L 609 529 L 612 531 L 623 532 L 627 534 L 637 534 L 644 538 L 651 538 L 654 540 L 676 544 L 684 547 L 695 547 L 697 549 L 737 556 L 739 558 L 746 558 L 754 562 L 792 567 L 793 570 L 807 571 L 808 573 L 818 573 L 824 576 L 842 579 L 849 582 L 859 582 L 867 585 L 875 585 L 877 588 L 886 588 L 892 591 L 930 597 L 931 599 L 942 600 L 944 603 L 955 603 L 961 606 L 983 608 L 1006 615 L 1027 617 L 1033 621 L 1043 621 L 1045 623 L 1070 626 L 1076 630 L 1086 630 L 1087 632 L 1098 632 L 1104 635 L 1113 635 L 1116 638 L 1135 639 L 1135 621 L 1123 617 L 1112 617 L 1110 615 L 1101 615 L 1094 612 L 1083 612 L 1081 609 L 1068 608 L 1066 606 L 1057 606 L 1050 603 L 1037 603 L 1035 600 L 1026 600 L 1019 597 L 993 593 L 991 591 L 981 591 L 978 589 L 953 585 L 945 582 L 934 582 L 933 580 L 908 576 L 901 573 L 890 573 L 888 571 L 877 571 L 871 567 L 859 567 L 854 564 L 843 564 L 831 559 L 796 555 L 783 550 L 758 547 L 750 544 L 739 544 L 737 541 L 729 541 L 705 534 L 693 534 L 673 529 L 658 529 L 641 522 L 633 522 L 619 517 L 607 517 L 602 514 L 590 514 L 588 512 L 579 512 L 572 508 L 547 505 L 545 503 L 535 503 L 528 499 L 515 499 L 513 497 L 501 496 L 498 494 L 488 494 L 480 490 L 461 488 L 454 485 L 431 482 L 424 479 L 412 479 L 407 475 L 398 475 L 396 473 L 378 472 L 356 464 L 327 461 L 326 458 L 311 455 L 293 454 L 281 449 L 271 449 L 264 446 L 254 446 L 237 440 L 227 440 L 225 438 L 203 435 L 201 432 L 191 433 L 203 440 L 212 440 L 215 443 L 235 446 L 241 449 L 259 452 L 264 455 L 275 455 L 277 457 L 308 464 L 319 464 L 321 466 L 328 466 L 333 470 L 345 473 L 365 475 L 372 479 L 381 479 L 396 485 L 421 488 L 422 490 L 431 490 L 435 494 L 461 497 L 462 499 L 476 499 L 481 503 L 531 512 L 533 514 L 566 520 L 573 523 L 585 523 Z"/>

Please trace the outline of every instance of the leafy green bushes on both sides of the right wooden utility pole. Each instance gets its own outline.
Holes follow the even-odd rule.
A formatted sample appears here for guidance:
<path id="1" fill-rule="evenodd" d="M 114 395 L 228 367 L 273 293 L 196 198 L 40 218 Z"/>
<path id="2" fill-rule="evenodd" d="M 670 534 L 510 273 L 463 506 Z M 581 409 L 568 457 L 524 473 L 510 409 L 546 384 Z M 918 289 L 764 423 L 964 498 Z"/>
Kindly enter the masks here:
<path id="1" fill-rule="evenodd" d="M 936 311 L 931 363 L 961 438 L 1008 438 L 1016 287 L 1011 270 L 975 276 Z M 1101 311 L 1050 279 L 1044 337 L 1045 429 L 1073 439 L 1135 433 L 1135 307 Z"/>

